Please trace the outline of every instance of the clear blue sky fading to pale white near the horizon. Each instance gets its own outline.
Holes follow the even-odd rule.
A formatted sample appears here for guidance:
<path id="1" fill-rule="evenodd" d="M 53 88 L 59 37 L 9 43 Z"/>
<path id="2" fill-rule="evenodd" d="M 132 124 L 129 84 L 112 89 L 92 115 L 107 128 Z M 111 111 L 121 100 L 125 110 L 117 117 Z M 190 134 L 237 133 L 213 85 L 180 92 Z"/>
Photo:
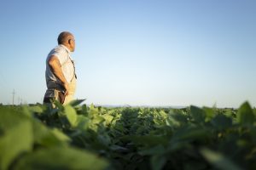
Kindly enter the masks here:
<path id="1" fill-rule="evenodd" d="M 0 103 L 42 102 L 45 59 L 73 32 L 75 98 L 96 105 L 256 105 L 256 1 L 2 1 Z"/>

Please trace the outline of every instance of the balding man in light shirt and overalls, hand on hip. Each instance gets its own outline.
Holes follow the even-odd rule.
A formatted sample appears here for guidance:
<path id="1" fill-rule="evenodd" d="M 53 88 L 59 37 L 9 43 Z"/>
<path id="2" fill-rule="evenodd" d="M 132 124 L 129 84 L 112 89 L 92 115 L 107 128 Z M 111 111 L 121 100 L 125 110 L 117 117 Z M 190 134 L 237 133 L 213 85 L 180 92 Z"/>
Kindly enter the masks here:
<path id="1" fill-rule="evenodd" d="M 73 34 L 63 31 L 58 37 L 58 46 L 52 49 L 46 59 L 46 85 L 44 103 L 53 99 L 66 105 L 73 99 L 76 89 L 76 73 L 70 54 L 75 49 Z"/>

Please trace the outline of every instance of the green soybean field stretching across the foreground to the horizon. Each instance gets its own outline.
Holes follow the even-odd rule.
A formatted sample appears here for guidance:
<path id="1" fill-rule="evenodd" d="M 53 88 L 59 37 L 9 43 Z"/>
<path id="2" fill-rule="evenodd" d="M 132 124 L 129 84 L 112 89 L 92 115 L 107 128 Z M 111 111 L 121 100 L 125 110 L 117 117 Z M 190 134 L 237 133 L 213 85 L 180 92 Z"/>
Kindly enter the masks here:
<path id="1" fill-rule="evenodd" d="M 256 109 L 0 105 L 1 170 L 256 169 Z"/>

